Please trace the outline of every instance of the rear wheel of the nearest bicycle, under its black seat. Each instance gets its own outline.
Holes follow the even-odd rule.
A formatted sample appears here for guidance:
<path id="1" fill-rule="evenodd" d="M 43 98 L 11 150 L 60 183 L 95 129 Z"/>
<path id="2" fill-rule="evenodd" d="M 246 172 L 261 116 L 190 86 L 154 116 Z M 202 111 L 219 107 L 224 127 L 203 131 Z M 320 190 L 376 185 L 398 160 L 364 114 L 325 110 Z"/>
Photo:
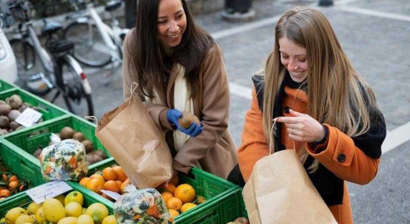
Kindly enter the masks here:
<path id="1" fill-rule="evenodd" d="M 57 98 L 55 104 L 79 116 L 94 115 L 91 94 L 85 93 L 82 80 L 74 66 L 67 61 L 60 65 L 56 75 L 61 74 L 61 77 L 56 77 L 56 80 L 62 96 Z"/>

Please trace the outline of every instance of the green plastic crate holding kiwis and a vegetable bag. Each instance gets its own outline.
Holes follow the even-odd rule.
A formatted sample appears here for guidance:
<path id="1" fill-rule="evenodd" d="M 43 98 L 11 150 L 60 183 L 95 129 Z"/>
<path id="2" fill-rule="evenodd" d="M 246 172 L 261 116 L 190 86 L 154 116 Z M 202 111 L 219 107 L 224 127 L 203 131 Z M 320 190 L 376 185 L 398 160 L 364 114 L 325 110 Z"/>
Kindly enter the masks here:
<path id="1" fill-rule="evenodd" d="M 94 130 L 96 125 L 71 114 L 66 114 L 56 119 L 44 121 L 36 126 L 4 135 L 5 137 L 1 140 L 0 144 L 0 155 L 2 157 L 12 156 L 20 159 L 24 158 L 23 162 L 27 164 L 27 167 L 29 167 L 32 172 L 24 173 L 22 171 L 19 172 L 17 169 L 16 172 L 18 172 L 18 175 L 31 180 L 36 186 L 43 184 L 44 180 L 41 175 L 40 161 L 32 156 L 32 153 L 39 145 L 46 147 L 50 142 L 51 133 L 60 132 L 65 126 L 70 126 L 76 131 L 82 131 L 85 135 L 85 139 L 92 141 L 94 149 L 101 149 L 107 154 L 107 159 L 88 166 L 89 173 L 95 173 L 97 170 L 115 163 L 114 158 L 110 157 L 110 154 L 95 137 Z M 35 134 L 32 135 L 33 133 Z M 13 164 L 18 163 L 8 163 L 6 165 L 13 166 Z"/>

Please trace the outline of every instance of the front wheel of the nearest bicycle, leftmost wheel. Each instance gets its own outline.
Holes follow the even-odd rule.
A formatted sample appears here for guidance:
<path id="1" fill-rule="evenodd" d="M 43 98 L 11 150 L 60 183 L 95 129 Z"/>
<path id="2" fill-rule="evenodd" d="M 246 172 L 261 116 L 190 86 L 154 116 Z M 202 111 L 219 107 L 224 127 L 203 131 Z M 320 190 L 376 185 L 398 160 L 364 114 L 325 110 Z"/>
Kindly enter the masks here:
<path id="1" fill-rule="evenodd" d="M 50 92 L 50 88 L 41 79 L 33 77 L 40 74 L 46 76 L 43 65 L 37 60 L 37 55 L 33 45 L 22 39 L 11 39 L 11 48 L 13 49 L 17 65 L 16 82 L 21 88 L 37 95 L 45 95 Z"/>

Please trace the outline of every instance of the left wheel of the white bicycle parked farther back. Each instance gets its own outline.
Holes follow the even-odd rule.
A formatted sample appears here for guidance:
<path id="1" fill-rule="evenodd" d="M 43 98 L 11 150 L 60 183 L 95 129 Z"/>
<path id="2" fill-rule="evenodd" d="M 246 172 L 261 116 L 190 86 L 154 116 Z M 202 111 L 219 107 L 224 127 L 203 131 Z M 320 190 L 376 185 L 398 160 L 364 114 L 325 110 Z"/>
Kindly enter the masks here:
<path id="1" fill-rule="evenodd" d="M 64 30 L 64 38 L 75 43 L 73 56 L 81 63 L 102 67 L 111 62 L 110 49 L 94 24 L 73 22 Z"/>

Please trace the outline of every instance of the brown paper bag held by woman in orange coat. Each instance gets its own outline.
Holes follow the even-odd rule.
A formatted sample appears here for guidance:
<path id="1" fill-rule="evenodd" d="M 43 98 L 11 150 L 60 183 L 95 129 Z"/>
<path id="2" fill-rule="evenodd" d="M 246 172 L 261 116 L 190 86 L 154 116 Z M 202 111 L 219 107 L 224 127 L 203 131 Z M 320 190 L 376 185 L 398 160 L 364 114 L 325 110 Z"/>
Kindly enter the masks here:
<path id="1" fill-rule="evenodd" d="M 250 224 L 337 224 L 294 149 L 258 160 L 242 194 Z"/>

